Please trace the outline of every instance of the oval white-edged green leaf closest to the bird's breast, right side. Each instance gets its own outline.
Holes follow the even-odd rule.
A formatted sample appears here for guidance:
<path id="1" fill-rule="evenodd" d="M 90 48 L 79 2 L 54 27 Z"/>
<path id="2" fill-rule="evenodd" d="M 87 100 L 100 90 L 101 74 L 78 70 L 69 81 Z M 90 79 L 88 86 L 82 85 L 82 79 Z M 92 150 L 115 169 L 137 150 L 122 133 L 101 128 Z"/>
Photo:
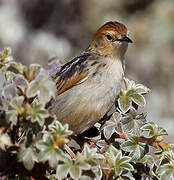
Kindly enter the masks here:
<path id="1" fill-rule="evenodd" d="M 131 107 L 131 99 L 125 93 L 118 99 L 119 108 L 123 113 L 126 113 Z"/>

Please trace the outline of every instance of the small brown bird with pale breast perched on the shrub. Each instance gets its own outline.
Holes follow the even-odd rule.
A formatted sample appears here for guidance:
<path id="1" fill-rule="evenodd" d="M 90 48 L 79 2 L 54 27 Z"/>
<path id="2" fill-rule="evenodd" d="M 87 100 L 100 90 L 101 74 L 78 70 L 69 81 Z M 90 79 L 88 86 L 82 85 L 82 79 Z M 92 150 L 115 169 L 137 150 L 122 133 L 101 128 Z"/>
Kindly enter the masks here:
<path id="1" fill-rule="evenodd" d="M 112 107 L 124 76 L 123 58 L 132 40 L 127 28 L 107 22 L 95 33 L 89 47 L 56 74 L 56 100 L 51 111 L 74 134 L 82 133 Z"/>

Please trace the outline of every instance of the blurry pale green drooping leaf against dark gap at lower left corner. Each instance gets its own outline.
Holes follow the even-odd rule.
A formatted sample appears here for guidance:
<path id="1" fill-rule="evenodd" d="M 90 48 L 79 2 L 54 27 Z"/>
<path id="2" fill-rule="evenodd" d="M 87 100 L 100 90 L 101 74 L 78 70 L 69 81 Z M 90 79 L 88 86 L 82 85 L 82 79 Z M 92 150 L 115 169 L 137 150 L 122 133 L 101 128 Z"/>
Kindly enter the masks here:
<path id="1" fill-rule="evenodd" d="M 32 146 L 26 148 L 25 144 L 21 144 L 18 158 L 19 161 L 23 162 L 27 170 L 32 170 L 35 162 L 38 162 L 36 150 Z"/>

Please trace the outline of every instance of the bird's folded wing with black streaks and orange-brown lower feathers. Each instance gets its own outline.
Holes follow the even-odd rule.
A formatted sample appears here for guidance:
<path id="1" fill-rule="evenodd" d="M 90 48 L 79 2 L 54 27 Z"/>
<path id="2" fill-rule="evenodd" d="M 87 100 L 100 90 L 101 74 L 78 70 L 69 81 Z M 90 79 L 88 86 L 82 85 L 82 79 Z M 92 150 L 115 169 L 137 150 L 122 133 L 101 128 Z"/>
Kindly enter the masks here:
<path id="1" fill-rule="evenodd" d="M 87 63 L 90 57 L 91 54 L 83 53 L 60 69 L 55 78 L 58 95 L 88 79 L 89 70 Z"/>

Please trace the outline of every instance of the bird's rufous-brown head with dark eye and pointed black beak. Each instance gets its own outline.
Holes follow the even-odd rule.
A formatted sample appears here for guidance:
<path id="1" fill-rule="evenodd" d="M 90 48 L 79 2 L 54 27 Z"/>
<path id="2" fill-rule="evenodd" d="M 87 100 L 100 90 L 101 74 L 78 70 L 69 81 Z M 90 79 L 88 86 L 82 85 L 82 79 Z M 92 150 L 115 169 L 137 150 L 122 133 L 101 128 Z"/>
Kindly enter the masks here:
<path id="1" fill-rule="evenodd" d="M 116 21 L 110 21 L 100 27 L 95 33 L 91 49 L 104 56 L 122 58 L 132 40 L 128 37 L 126 26 Z"/>

